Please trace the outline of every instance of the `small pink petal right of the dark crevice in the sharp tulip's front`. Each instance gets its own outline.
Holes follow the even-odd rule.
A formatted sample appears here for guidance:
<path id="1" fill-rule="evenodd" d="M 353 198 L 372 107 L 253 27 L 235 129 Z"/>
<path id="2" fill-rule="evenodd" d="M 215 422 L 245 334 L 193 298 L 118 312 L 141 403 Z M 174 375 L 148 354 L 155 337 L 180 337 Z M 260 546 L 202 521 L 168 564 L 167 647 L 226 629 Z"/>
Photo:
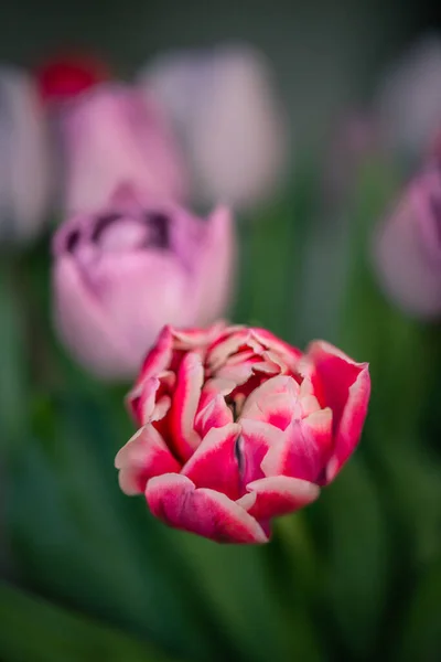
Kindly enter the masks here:
<path id="1" fill-rule="evenodd" d="M 259 420 L 240 420 L 240 439 L 238 452 L 241 457 L 243 485 L 263 478 L 261 462 L 268 450 L 273 446 L 281 445 L 283 433 L 272 425 Z"/>

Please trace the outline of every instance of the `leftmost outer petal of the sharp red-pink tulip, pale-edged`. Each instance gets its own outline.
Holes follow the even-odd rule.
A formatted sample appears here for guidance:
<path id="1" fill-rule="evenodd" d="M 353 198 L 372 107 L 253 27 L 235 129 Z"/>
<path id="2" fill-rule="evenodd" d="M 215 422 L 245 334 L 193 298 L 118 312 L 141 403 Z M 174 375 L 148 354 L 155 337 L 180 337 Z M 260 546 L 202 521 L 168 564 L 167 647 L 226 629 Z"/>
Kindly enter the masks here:
<path id="1" fill-rule="evenodd" d="M 126 494 L 141 494 L 153 476 L 180 471 L 181 466 L 151 425 L 141 427 L 115 458 L 119 485 Z"/>

